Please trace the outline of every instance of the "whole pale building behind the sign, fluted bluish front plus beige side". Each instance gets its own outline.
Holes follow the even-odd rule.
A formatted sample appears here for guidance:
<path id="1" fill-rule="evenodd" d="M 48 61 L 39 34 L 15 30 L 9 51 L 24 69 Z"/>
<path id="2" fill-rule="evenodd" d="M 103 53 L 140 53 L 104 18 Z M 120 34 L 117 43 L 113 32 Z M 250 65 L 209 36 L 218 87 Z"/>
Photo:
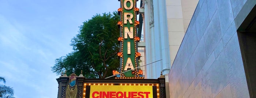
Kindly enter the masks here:
<path id="1" fill-rule="evenodd" d="M 146 77 L 167 75 L 198 0 L 144 0 Z"/>

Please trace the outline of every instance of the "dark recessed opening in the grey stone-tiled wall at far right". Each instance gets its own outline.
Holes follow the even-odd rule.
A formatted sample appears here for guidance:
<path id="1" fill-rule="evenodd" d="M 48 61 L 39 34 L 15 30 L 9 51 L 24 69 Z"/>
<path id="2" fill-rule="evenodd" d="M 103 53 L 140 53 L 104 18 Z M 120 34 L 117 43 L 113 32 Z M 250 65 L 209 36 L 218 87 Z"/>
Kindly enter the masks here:
<path id="1" fill-rule="evenodd" d="M 256 6 L 238 28 L 238 39 L 251 98 L 256 98 Z"/>

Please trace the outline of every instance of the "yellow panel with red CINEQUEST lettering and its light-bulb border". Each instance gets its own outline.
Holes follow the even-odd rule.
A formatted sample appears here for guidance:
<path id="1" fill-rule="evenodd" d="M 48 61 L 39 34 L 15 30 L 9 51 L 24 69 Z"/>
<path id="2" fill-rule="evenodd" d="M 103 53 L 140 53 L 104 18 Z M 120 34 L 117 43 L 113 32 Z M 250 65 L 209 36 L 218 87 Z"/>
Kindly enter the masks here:
<path id="1" fill-rule="evenodd" d="M 159 84 L 84 83 L 82 98 L 159 98 Z"/>

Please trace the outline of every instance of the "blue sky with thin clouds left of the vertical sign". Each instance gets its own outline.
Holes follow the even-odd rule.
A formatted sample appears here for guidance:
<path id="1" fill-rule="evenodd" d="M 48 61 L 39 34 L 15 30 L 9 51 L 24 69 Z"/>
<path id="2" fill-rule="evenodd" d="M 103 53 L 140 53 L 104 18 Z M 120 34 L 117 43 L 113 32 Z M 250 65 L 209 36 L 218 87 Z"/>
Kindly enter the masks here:
<path id="1" fill-rule="evenodd" d="M 119 7 L 118 0 L 0 0 L 0 76 L 14 97 L 56 98 L 55 59 L 73 51 L 82 22 Z"/>

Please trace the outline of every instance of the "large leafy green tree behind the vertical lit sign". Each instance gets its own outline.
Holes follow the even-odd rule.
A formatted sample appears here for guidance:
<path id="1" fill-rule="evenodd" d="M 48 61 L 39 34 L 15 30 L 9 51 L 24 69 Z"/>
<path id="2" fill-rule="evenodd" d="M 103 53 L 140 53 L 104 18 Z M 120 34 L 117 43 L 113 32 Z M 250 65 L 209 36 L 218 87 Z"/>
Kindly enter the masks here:
<path id="1" fill-rule="evenodd" d="M 60 75 L 67 70 L 79 75 L 83 70 L 86 78 L 106 78 L 112 75 L 112 70 L 118 70 L 120 29 L 117 22 L 120 17 L 117 12 L 96 14 L 84 22 L 79 34 L 71 40 L 73 52 L 55 60 L 52 71 Z"/>

